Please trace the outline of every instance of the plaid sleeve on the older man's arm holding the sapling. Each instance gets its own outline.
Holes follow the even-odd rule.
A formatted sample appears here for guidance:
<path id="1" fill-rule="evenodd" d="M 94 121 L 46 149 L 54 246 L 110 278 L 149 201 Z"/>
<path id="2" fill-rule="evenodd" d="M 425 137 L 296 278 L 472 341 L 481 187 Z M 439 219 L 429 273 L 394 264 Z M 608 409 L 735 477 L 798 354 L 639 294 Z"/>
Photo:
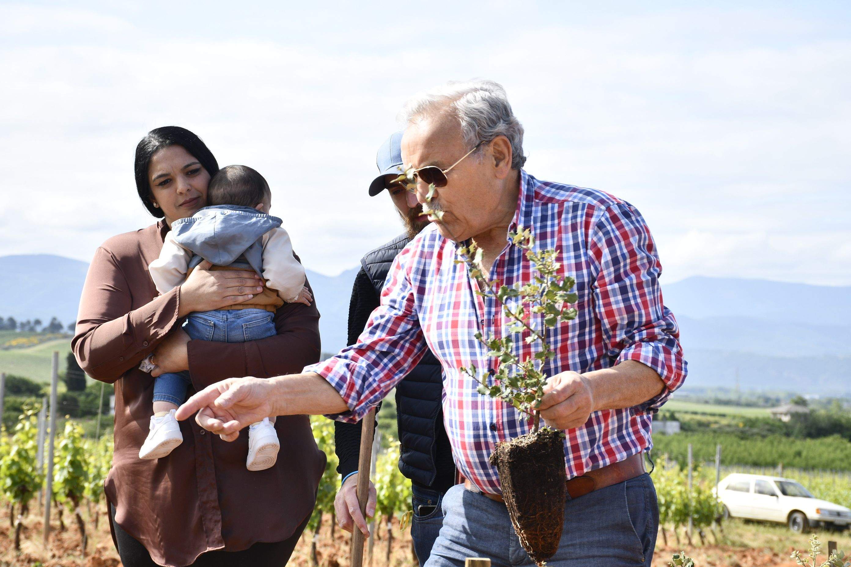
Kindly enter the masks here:
<path id="1" fill-rule="evenodd" d="M 607 354 L 615 365 L 637 360 L 659 374 L 665 384 L 662 392 L 633 407 L 637 413 L 657 411 L 683 385 L 688 365 L 677 320 L 662 303 L 662 266 L 653 236 L 641 213 L 618 203 L 597 221 L 590 252 L 598 270 L 594 307 Z"/>

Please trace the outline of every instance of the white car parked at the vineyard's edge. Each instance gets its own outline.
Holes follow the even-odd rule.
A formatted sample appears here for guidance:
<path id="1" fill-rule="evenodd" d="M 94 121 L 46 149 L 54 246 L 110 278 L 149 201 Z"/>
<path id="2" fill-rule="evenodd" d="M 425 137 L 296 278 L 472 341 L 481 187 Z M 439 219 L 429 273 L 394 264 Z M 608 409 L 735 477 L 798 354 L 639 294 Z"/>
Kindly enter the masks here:
<path id="1" fill-rule="evenodd" d="M 733 473 L 718 484 L 724 516 L 787 524 L 798 533 L 810 526 L 845 530 L 851 509 L 814 498 L 800 483 L 762 474 Z"/>

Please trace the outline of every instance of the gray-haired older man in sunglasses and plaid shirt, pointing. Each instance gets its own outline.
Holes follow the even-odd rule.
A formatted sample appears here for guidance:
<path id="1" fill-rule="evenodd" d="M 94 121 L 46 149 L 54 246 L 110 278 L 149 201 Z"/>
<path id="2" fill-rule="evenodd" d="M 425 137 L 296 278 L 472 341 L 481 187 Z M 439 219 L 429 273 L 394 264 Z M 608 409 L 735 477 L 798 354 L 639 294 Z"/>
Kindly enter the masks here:
<path id="1" fill-rule="evenodd" d="M 357 421 L 427 346 L 443 366 L 444 421 L 463 483 L 444 496 L 443 528 L 426 566 L 463 565 L 467 557 L 533 564 L 488 463 L 498 442 L 531 424 L 511 405 L 478 394 L 460 371 L 493 373 L 496 361 L 475 334 L 500 336 L 508 321 L 455 262 L 456 243 L 473 239 L 489 279 L 526 284 L 532 269 L 508 235 L 528 228 L 536 247 L 559 251 L 579 296 L 576 319 L 549 330 L 557 354 L 545 367 L 551 377 L 540 405 L 546 423 L 565 434 L 569 495 L 561 544 L 547 563 L 649 565 L 659 513 L 642 454 L 652 446 L 651 417 L 682 385 L 686 362 L 677 322 L 662 303 L 647 225 L 614 196 L 526 173 L 523 127 L 494 82 L 449 83 L 409 101 L 404 115 L 402 155 L 417 168 L 418 199 L 425 202 L 434 184 L 431 208 L 443 214 L 397 256 L 358 343 L 299 375 L 214 384 L 179 417 L 201 410 L 197 421 L 224 439 L 272 415 Z M 519 356 L 530 354 L 525 342 L 515 345 Z"/>

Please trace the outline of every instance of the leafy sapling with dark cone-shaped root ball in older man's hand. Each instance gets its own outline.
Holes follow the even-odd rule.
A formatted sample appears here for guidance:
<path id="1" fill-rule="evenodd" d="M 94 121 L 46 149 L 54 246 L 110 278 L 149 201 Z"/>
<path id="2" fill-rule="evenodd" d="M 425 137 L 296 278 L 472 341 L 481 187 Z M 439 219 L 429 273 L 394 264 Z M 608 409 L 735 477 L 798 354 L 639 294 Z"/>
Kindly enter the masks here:
<path id="1" fill-rule="evenodd" d="M 414 190 L 414 168 L 408 167 L 397 181 Z M 461 367 L 460 371 L 479 384 L 479 394 L 502 400 L 531 422 L 530 433 L 499 443 L 490 462 L 499 473 L 505 506 L 520 543 L 529 557 L 541 565 L 556 553 L 562 536 L 566 474 L 564 434 L 540 428 L 537 408 L 544 397 L 547 370 L 551 370 L 547 365 L 556 357 L 547 331 L 576 317 L 576 309 L 569 306 L 577 301 L 575 281 L 561 274 L 557 250 L 535 248 L 534 235 L 528 228 L 518 228 L 508 236 L 537 274 L 528 283 L 515 286 L 488 279 L 482 248 L 472 239 L 460 242 L 451 234 L 442 223 L 443 211 L 432 206 L 434 193 L 435 185 L 430 184 L 423 213 L 441 224 L 455 242 L 459 255 L 455 263 L 466 265 L 477 282 L 477 295 L 498 303 L 509 321 L 501 337 L 484 336 L 481 332 L 475 335 L 488 348 L 488 357 L 497 361 L 494 371 L 481 376 L 476 366 Z"/>

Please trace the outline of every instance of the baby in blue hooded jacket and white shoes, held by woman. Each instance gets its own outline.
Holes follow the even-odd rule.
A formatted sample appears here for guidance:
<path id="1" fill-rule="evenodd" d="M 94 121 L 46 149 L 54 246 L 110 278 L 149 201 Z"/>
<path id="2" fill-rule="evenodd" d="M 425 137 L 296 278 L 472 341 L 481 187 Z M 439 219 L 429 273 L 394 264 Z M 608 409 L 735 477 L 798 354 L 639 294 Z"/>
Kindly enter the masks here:
<path id="1" fill-rule="evenodd" d="M 271 191 L 266 179 L 251 167 L 228 166 L 210 179 L 208 207 L 190 218 L 175 220 L 165 236 L 163 251 L 148 267 L 160 293 L 180 286 L 203 260 L 211 269 L 251 269 L 265 281 L 263 291 L 245 303 L 214 311 L 191 313 L 183 329 L 193 339 L 244 343 L 277 334 L 275 310 L 287 303 L 310 304 L 305 269 L 293 256 L 281 219 L 270 216 Z M 151 357 L 140 368 L 151 371 Z M 154 378 L 151 430 L 139 451 L 140 459 L 167 456 L 183 442 L 174 411 L 186 401 L 191 383 L 188 371 Z M 248 470 L 270 468 L 280 443 L 274 417 L 248 428 Z"/>

